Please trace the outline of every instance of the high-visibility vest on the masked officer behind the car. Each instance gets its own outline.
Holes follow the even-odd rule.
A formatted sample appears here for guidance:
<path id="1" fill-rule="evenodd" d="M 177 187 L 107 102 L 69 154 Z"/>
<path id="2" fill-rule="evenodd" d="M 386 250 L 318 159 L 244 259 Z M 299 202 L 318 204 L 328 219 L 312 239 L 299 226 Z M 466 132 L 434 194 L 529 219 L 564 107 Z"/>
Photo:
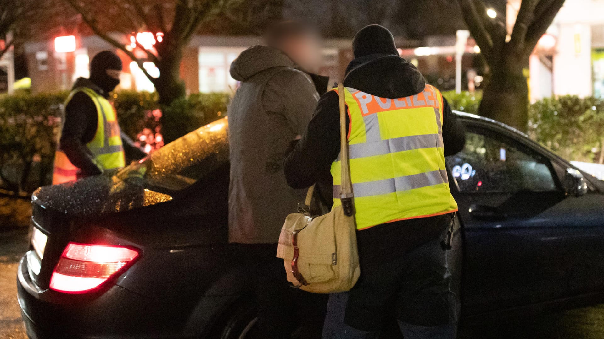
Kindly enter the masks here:
<path id="1" fill-rule="evenodd" d="M 97 165 L 104 170 L 115 170 L 126 165 L 124 147 L 121 142 L 120 126 L 117 123 L 115 108 L 102 95 L 88 87 L 80 87 L 72 90 L 65 101 L 65 106 L 77 92 L 86 93 L 97 107 L 97 131 L 86 144 Z M 77 179 L 79 168 L 69 161 L 66 154 L 57 149 L 54 155 L 53 185 L 70 182 Z"/>

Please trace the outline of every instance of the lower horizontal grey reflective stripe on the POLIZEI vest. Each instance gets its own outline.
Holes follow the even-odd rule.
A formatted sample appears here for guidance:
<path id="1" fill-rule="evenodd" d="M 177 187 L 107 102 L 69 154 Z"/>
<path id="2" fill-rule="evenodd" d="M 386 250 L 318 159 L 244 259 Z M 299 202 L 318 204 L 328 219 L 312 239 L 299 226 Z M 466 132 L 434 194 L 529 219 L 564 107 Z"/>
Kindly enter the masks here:
<path id="1" fill-rule="evenodd" d="M 371 195 L 408 191 L 414 188 L 422 188 L 447 182 L 446 170 L 436 170 L 413 174 L 411 176 L 396 177 L 393 179 L 353 183 L 352 192 L 355 195 L 355 198 L 371 197 Z M 340 185 L 333 185 L 333 197 L 340 197 Z"/>

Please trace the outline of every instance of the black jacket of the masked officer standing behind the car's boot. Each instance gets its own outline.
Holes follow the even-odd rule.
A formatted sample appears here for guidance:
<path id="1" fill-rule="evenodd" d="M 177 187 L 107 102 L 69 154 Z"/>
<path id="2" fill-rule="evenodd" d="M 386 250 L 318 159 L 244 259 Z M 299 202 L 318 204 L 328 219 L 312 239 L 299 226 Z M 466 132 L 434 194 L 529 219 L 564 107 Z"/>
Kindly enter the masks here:
<path id="1" fill-rule="evenodd" d="M 86 78 L 78 78 L 74 89 L 88 87 L 99 95 L 108 98 L 100 87 Z M 80 169 L 79 176 L 94 176 L 103 173 L 102 168 L 97 165 L 86 144 L 94 138 L 97 131 L 97 107 L 92 99 L 84 92 L 77 92 L 65 106 L 65 123 L 59 141 L 60 150 L 65 152 L 69 161 Z M 139 147 L 134 145 L 132 139 L 121 132 L 126 159 L 140 159 L 146 156 Z"/>

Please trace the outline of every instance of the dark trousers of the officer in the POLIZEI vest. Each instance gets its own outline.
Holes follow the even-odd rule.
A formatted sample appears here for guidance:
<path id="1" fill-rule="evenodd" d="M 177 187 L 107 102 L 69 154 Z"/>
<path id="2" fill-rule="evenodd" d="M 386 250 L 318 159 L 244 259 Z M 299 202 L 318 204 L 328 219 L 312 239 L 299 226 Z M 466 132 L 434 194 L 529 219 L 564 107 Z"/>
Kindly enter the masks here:
<path id="1" fill-rule="evenodd" d="M 361 267 L 355 287 L 332 294 L 323 339 L 377 339 L 396 318 L 405 339 L 455 337 L 455 294 L 442 236 L 379 264 Z"/>

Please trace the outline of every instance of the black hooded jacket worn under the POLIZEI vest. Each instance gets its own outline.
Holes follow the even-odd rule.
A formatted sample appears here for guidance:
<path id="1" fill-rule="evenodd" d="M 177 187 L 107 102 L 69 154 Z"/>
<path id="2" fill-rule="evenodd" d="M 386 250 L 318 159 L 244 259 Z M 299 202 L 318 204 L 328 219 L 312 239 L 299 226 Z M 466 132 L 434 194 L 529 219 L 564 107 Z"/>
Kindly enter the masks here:
<path id="1" fill-rule="evenodd" d="M 381 98 L 402 98 L 420 93 L 425 80 L 417 68 L 397 55 L 371 54 L 353 60 L 347 68 L 344 86 Z M 445 156 L 460 151 L 465 130 L 446 100 L 443 116 Z M 349 119 L 347 117 L 347 125 Z M 306 188 L 315 182 L 331 183 L 329 172 L 340 150 L 339 101 L 334 91 L 321 97 L 300 142 L 292 144 L 284 172 L 292 188 Z M 443 218 L 396 221 L 358 232 L 359 255 L 365 262 L 379 262 L 403 254 L 439 236 Z M 436 222 L 439 221 L 439 222 Z"/>

